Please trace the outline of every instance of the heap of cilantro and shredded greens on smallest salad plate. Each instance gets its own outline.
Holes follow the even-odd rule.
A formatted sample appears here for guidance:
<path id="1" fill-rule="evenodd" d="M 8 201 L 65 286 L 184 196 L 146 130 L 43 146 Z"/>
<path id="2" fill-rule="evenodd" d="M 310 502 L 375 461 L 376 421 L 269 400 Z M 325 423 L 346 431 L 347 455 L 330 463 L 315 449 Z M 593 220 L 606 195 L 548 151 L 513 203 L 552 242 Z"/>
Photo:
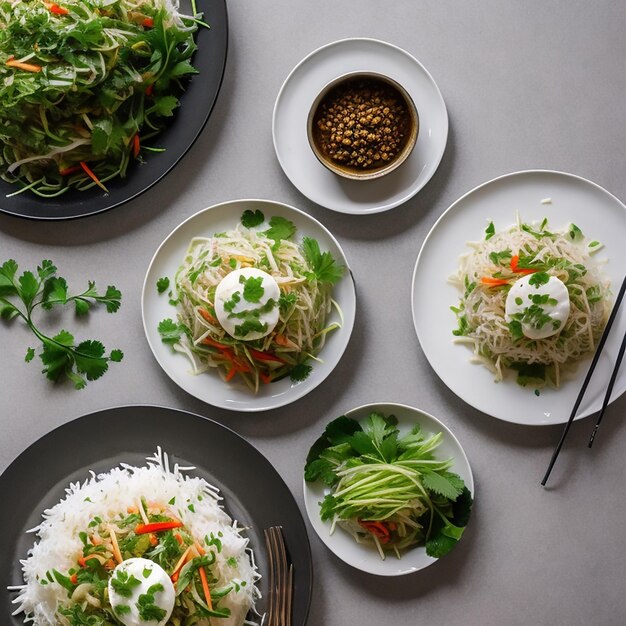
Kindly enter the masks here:
<path id="1" fill-rule="evenodd" d="M 419 425 L 400 436 L 397 419 L 378 412 L 363 426 L 345 415 L 330 422 L 304 468 L 305 480 L 331 487 L 322 519 L 361 527 L 381 549 L 425 545 L 430 556 L 447 554 L 469 521 L 472 495 L 449 471 L 454 460 L 433 454 L 442 438 Z"/>

